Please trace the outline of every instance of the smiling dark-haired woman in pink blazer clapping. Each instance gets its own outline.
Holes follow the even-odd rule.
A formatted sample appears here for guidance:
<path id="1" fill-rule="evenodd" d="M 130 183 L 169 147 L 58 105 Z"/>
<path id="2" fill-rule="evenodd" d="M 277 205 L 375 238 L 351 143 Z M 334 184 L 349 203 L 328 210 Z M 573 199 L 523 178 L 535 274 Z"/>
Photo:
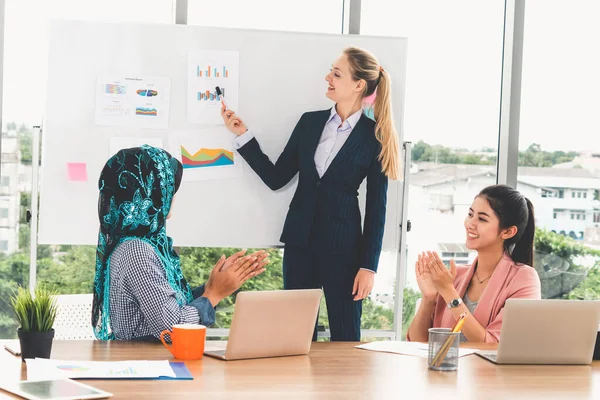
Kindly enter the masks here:
<path id="1" fill-rule="evenodd" d="M 471 265 L 446 268 L 435 252 L 415 264 L 421 305 L 407 339 L 425 342 L 431 327 L 452 328 L 468 314 L 463 340 L 496 343 L 504 304 L 510 298 L 540 299 L 540 279 L 533 269 L 533 205 L 505 185 L 483 189 L 465 219 L 466 245 L 477 251 Z"/>

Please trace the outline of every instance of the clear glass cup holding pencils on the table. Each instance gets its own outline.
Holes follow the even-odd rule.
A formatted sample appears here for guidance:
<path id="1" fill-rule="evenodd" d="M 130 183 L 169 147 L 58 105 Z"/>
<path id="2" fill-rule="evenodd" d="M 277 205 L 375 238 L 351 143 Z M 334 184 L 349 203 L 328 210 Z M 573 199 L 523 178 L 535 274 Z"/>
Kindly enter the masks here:
<path id="1" fill-rule="evenodd" d="M 429 329 L 429 369 L 455 371 L 458 368 L 460 332 L 449 328 Z"/>

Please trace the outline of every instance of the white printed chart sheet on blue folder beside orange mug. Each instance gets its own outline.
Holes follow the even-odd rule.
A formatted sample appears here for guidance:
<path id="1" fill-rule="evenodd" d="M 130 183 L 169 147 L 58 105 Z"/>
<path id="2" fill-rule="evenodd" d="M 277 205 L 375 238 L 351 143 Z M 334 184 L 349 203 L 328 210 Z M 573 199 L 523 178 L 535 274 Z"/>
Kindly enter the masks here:
<path id="1" fill-rule="evenodd" d="M 27 359 L 27 380 L 53 378 L 131 379 L 175 378 L 168 361 L 73 361 Z"/>

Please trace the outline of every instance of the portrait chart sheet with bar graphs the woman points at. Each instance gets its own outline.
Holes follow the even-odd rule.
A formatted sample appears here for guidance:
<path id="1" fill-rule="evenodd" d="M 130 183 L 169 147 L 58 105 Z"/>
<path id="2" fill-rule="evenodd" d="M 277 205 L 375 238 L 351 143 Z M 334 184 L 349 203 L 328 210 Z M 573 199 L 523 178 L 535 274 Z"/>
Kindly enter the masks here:
<path id="1" fill-rule="evenodd" d="M 188 52 L 188 121 L 223 124 L 221 89 L 227 107 L 239 112 L 239 53 L 237 51 L 190 50 Z"/>

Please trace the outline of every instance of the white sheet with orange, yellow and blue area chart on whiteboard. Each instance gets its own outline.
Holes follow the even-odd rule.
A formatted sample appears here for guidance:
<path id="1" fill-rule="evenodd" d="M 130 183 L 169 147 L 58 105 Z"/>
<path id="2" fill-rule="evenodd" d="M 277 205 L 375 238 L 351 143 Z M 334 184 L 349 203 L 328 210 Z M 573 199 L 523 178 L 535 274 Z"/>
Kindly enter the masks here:
<path id="1" fill-rule="evenodd" d="M 181 161 L 184 181 L 241 176 L 242 158 L 232 143 L 232 134 L 223 127 L 172 132 L 169 137 L 170 153 Z"/>

